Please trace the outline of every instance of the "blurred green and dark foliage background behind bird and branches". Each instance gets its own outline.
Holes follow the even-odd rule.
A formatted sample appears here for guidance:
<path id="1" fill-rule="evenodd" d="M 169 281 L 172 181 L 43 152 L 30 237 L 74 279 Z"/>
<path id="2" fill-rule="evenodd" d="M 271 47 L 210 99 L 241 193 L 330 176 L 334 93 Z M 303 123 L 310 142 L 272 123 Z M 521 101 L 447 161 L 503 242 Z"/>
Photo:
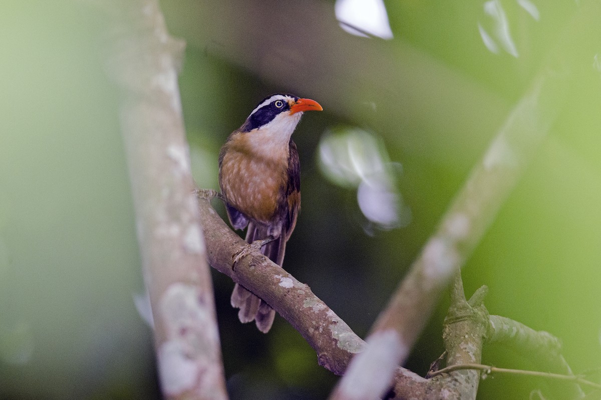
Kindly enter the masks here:
<path id="1" fill-rule="evenodd" d="M 385 4 L 390 41 L 351 37 L 337 26 L 334 2 L 307 2 L 307 15 L 323 27 L 314 32 L 323 47 L 306 60 L 294 48 L 303 43 L 293 40 L 302 26 L 291 26 L 288 2 L 162 1 L 169 29 L 188 42 L 180 90 L 200 187 L 216 188 L 220 146 L 266 95 L 289 91 L 324 106 L 294 134 L 302 212 L 284 266 L 362 336 L 588 2 L 537 4 L 538 20 L 519 2 L 495 2 L 517 57 L 500 42 L 497 53 L 483 43 L 479 26 L 495 38 L 490 2 Z M 273 26 L 248 28 L 264 19 Z M 591 25 L 583 21 L 586 31 Z M 2 399 L 159 396 L 151 333 L 133 305 L 144 289 L 104 23 L 87 2 L 2 5 Z M 299 16 L 294 23 L 308 22 Z M 249 34 L 274 30 L 281 36 L 273 41 Z M 567 106 L 463 269 L 468 295 L 488 285 L 489 311 L 557 335 L 576 373 L 597 368 L 601 356 L 601 97 L 593 42 L 594 35 L 570 43 L 582 59 L 570 60 L 578 66 L 569 71 L 572 90 L 555 94 Z M 346 63 L 355 52 L 366 52 L 364 64 L 360 56 Z M 402 166 L 394 189 L 410 210 L 408 225 L 369 224 L 356 188 L 322 173 L 320 141 L 339 127 L 373 134 L 386 162 Z M 231 398 L 325 398 L 336 377 L 317 365 L 304 339 L 280 317 L 268 335 L 240 324 L 229 305 L 232 282 L 213 276 Z M 443 297 L 407 362 L 419 374 L 444 350 L 447 307 Z M 487 346 L 483 362 L 530 368 L 524 356 Z M 528 398 L 535 385 L 544 383 L 495 377 L 481 383 L 479 398 Z"/>

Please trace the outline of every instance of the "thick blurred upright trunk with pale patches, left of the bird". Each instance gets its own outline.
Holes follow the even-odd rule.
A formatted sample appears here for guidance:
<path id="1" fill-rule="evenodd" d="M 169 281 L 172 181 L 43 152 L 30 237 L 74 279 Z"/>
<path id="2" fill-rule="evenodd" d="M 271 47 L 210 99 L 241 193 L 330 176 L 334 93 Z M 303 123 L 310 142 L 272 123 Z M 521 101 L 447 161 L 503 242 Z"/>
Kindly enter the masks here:
<path id="1" fill-rule="evenodd" d="M 108 68 L 121 89 L 144 281 L 168 399 L 227 399 L 212 282 L 185 141 L 175 61 L 156 0 L 100 2 L 112 17 Z"/>

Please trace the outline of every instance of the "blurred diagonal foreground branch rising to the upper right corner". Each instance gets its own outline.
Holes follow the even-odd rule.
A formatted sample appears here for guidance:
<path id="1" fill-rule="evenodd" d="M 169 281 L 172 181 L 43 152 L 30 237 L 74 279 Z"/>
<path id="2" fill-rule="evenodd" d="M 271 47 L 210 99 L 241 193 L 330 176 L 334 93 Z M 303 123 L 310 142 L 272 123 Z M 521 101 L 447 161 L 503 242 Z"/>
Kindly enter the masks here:
<path id="1" fill-rule="evenodd" d="M 389 353 L 397 354 L 401 365 L 429 320 L 450 276 L 472 254 L 554 124 L 576 72 L 587 57 L 596 52 L 596 43 L 591 41 L 594 35 L 588 30 L 584 32 L 582 26 L 591 29 L 594 26 L 598 34 L 599 24 L 595 21 L 599 14 L 599 4 L 587 2 L 567 24 L 560 43 L 549 53 L 530 88 L 508 115 L 480 163 L 472 169 L 437 230 L 379 315 L 366 342 L 382 336 L 383 332 L 386 336 L 394 332 L 397 341 Z M 584 46 L 575 47 L 574 43 Z M 368 346 L 364 353 L 370 352 L 371 348 Z M 373 351 L 378 351 L 377 346 Z M 358 371 L 356 375 L 364 378 L 366 374 L 370 375 L 370 381 L 379 380 L 376 393 L 384 393 L 390 384 L 385 382 L 388 375 L 362 365 L 362 359 L 371 358 L 364 353 L 353 360 L 349 370 Z M 352 377 L 343 377 L 332 399 L 349 398 L 340 393 L 349 392 L 348 388 L 353 386 Z M 356 394 L 352 398 L 363 399 L 368 395 Z"/>

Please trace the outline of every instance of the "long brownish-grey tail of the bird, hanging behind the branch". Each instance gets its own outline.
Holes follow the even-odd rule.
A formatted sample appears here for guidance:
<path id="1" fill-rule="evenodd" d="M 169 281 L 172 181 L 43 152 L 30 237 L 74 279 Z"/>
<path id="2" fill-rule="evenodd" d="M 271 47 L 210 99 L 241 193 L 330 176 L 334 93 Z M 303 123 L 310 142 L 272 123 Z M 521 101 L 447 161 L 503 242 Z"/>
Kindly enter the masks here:
<path id="1" fill-rule="evenodd" d="M 246 231 L 247 243 L 252 243 L 254 240 L 264 239 L 265 237 L 267 237 L 266 228 L 258 227 L 253 222 L 248 223 L 248 230 Z M 282 232 L 278 239 L 264 245 L 261 248 L 261 252 L 274 263 L 282 266 L 285 248 L 285 233 Z M 240 309 L 238 312 L 240 322 L 246 323 L 254 320 L 258 330 L 263 333 L 267 333 L 271 329 L 275 318 L 275 310 L 239 284 L 234 286 L 234 291 L 231 293 L 231 305 Z"/>

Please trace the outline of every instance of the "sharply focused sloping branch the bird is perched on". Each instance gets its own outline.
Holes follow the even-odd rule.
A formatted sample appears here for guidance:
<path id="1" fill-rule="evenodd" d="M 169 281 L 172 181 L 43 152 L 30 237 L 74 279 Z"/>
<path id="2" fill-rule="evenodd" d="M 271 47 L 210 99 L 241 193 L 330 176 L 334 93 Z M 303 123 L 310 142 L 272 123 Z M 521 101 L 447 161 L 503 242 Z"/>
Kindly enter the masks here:
<path id="1" fill-rule="evenodd" d="M 301 333 L 317 353 L 319 365 L 342 375 L 365 342 L 338 317 L 308 285 L 258 251 L 242 258 L 233 269 L 233 256 L 246 243 L 234 233 L 209 203 L 210 192 L 200 190 L 198 205 L 209 263 L 234 282 L 251 290 Z M 426 380 L 398 368 L 395 373 L 407 395 L 423 392 Z"/>

